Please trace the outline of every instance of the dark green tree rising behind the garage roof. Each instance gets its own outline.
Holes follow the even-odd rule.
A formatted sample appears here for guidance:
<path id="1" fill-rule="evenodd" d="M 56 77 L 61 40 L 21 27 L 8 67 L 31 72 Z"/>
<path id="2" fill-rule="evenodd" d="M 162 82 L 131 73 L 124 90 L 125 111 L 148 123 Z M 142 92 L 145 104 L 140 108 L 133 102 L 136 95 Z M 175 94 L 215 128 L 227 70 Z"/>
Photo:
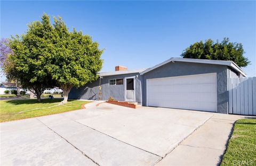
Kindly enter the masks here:
<path id="1" fill-rule="evenodd" d="M 222 42 L 214 42 L 212 39 L 195 42 L 183 51 L 181 57 L 194 59 L 232 60 L 239 67 L 250 64 L 249 59 L 243 56 L 242 43 L 229 42 L 224 38 Z"/>

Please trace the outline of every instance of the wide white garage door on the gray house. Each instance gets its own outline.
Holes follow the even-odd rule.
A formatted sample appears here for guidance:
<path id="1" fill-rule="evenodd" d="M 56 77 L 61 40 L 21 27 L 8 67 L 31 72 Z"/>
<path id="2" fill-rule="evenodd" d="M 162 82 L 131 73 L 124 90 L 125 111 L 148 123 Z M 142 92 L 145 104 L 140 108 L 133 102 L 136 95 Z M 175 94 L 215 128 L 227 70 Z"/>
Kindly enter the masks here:
<path id="1" fill-rule="evenodd" d="M 216 73 L 147 79 L 147 105 L 217 112 Z"/>

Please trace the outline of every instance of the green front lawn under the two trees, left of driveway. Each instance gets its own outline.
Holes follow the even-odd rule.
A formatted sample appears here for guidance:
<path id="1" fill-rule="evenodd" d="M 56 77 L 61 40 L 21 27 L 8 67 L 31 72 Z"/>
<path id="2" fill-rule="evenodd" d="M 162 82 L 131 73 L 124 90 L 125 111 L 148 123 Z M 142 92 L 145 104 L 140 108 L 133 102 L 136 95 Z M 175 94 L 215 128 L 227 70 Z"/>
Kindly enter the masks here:
<path id="1" fill-rule="evenodd" d="M 55 113 L 81 109 L 81 106 L 89 101 L 68 100 L 68 103 L 58 105 L 62 99 L 36 99 L 2 100 L 0 101 L 0 122 L 18 120 Z"/>

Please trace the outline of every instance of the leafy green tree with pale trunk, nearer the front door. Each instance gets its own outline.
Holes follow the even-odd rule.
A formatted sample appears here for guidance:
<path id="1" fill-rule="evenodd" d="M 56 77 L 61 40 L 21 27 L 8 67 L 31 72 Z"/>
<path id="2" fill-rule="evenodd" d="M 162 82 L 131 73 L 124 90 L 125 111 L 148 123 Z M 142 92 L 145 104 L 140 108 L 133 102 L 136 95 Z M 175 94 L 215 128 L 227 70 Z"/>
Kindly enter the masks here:
<path id="1" fill-rule="evenodd" d="M 60 17 L 54 18 L 53 29 L 51 60 L 46 68 L 63 90 L 62 102 L 66 103 L 71 88 L 97 80 L 97 73 L 102 68 L 103 50 L 81 31 L 73 29 L 69 32 Z"/>

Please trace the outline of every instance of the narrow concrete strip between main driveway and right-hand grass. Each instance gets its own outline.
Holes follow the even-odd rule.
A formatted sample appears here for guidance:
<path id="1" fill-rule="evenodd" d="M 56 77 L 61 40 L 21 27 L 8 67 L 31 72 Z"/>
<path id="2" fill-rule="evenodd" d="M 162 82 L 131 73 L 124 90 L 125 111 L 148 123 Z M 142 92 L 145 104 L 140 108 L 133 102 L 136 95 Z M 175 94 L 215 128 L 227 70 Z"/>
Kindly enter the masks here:
<path id="1" fill-rule="evenodd" d="M 218 165 L 237 119 L 246 116 L 215 113 L 206 123 L 156 165 Z"/>

